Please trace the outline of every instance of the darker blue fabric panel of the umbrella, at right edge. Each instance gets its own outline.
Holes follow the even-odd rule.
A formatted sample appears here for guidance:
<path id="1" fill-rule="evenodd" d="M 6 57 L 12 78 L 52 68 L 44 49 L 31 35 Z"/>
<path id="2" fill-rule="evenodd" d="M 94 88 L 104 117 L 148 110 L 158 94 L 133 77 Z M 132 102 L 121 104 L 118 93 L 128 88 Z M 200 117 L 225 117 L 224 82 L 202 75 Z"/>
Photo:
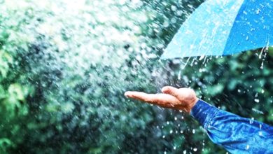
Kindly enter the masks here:
<path id="1" fill-rule="evenodd" d="M 273 1 L 245 0 L 230 30 L 223 55 L 273 45 Z"/>

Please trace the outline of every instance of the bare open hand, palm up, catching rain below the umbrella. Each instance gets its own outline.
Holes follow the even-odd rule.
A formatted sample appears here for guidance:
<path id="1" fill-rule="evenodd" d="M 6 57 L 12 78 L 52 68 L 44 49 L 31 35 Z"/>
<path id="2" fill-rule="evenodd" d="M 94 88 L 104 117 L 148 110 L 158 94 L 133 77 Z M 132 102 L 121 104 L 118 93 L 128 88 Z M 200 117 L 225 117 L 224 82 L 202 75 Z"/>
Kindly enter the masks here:
<path id="1" fill-rule="evenodd" d="M 143 102 L 162 106 L 164 108 L 178 109 L 190 113 L 198 101 L 195 91 L 190 88 L 167 86 L 162 88 L 163 94 L 146 94 L 144 92 L 125 92 L 126 97 L 138 99 Z"/>

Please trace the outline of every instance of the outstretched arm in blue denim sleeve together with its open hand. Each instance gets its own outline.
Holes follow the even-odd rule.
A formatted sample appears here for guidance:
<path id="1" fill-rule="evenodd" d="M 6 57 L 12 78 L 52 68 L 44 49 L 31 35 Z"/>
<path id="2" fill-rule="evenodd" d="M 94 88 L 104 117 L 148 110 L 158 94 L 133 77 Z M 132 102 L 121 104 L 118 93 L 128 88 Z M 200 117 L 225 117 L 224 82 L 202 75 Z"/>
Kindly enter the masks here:
<path id="1" fill-rule="evenodd" d="M 230 153 L 273 153 L 273 127 L 217 109 L 197 99 L 195 92 L 188 88 L 163 87 L 162 92 L 125 92 L 125 96 L 190 113 L 211 141 Z"/>

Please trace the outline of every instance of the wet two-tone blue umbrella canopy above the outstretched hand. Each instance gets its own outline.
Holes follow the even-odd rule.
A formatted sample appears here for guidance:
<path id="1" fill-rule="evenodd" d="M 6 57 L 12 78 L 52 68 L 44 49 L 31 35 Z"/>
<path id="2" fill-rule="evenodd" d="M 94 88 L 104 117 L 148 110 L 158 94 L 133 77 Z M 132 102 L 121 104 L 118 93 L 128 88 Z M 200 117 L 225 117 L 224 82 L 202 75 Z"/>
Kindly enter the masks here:
<path id="1" fill-rule="evenodd" d="M 169 43 L 162 59 L 230 55 L 273 45 L 273 0 L 207 0 Z"/>

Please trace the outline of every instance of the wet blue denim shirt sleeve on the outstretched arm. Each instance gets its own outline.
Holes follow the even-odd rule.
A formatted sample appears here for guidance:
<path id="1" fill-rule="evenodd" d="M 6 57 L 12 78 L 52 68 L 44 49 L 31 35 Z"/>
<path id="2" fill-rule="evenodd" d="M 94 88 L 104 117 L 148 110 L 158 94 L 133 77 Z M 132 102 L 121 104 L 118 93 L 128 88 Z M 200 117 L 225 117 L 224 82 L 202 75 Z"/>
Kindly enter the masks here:
<path id="1" fill-rule="evenodd" d="M 273 153 L 273 127 L 217 109 L 201 99 L 190 115 L 230 153 Z"/>

